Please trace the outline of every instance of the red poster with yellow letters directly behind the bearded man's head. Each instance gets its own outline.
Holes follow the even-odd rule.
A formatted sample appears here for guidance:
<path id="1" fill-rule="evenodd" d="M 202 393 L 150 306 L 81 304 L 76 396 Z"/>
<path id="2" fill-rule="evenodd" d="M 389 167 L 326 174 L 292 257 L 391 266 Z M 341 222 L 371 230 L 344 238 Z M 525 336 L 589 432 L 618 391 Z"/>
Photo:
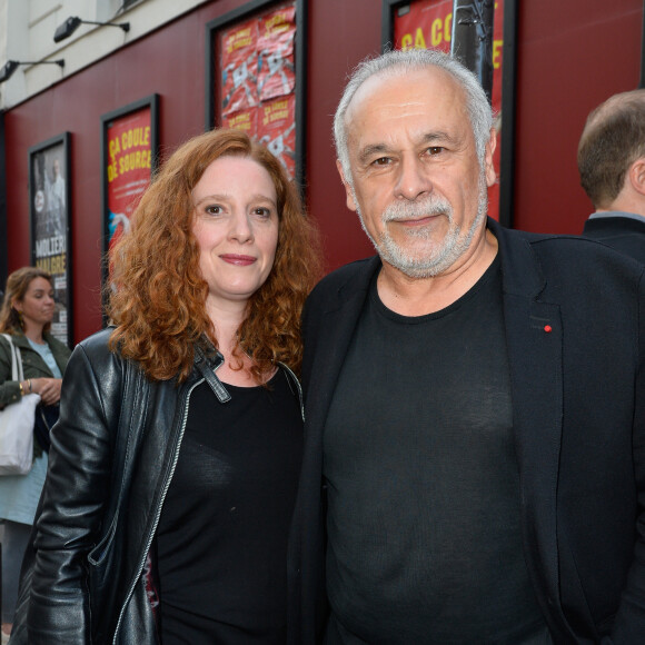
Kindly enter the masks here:
<path id="1" fill-rule="evenodd" d="M 493 29 L 492 105 L 497 130 L 493 156 L 497 180 L 488 189 L 488 215 L 499 219 L 499 151 L 502 135 L 502 51 L 504 46 L 504 0 L 496 0 Z M 416 0 L 395 12 L 394 43 L 398 49 L 440 49 L 449 52 L 453 31 L 453 0 Z"/>

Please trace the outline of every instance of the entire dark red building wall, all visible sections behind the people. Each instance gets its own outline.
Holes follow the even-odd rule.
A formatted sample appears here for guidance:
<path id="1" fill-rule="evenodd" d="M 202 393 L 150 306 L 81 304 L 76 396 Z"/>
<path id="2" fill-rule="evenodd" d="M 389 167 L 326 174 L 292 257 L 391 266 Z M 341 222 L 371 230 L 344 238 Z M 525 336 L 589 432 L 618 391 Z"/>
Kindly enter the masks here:
<path id="1" fill-rule="evenodd" d="M 515 226 L 578 232 L 591 205 L 578 186 L 577 139 L 595 105 L 637 85 L 643 3 L 517 1 Z M 9 271 L 30 257 L 28 149 L 66 130 L 72 135 L 76 340 L 101 326 L 100 116 L 157 92 L 162 150 L 202 131 L 206 24 L 244 3 L 209 2 L 6 113 Z M 347 73 L 380 50 L 381 2 L 308 4 L 307 199 L 333 269 L 373 252 L 356 215 L 345 207 L 331 118 Z"/>

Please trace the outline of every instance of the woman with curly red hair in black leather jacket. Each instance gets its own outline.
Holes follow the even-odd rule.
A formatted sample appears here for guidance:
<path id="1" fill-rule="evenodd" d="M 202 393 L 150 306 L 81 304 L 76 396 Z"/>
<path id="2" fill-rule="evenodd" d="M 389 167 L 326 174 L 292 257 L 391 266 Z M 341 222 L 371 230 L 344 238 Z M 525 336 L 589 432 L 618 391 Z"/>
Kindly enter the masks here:
<path id="1" fill-rule="evenodd" d="M 320 256 L 279 161 L 181 146 L 111 255 L 113 327 L 70 359 L 11 643 L 281 644 Z"/>

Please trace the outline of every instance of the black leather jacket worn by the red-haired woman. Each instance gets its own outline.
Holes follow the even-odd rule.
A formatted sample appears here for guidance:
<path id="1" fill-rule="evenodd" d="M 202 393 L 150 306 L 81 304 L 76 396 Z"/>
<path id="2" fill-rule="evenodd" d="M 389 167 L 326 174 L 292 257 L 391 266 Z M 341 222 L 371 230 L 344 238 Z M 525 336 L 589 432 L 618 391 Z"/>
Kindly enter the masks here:
<path id="1" fill-rule="evenodd" d="M 150 383 L 108 349 L 110 333 L 77 346 L 66 371 L 12 645 L 158 643 L 150 546 L 190 391 L 206 379 L 226 400 L 224 359 L 198 349 L 185 383 Z"/>

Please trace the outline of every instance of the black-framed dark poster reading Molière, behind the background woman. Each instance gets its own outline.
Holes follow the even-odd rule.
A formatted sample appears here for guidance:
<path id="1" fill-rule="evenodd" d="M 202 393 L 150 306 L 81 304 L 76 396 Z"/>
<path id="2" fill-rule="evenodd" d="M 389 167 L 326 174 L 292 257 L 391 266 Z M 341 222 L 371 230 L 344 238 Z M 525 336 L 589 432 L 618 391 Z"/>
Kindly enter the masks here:
<path id="1" fill-rule="evenodd" d="M 51 274 L 56 299 L 51 334 L 72 347 L 69 169 L 69 132 L 29 148 L 31 264 Z"/>

